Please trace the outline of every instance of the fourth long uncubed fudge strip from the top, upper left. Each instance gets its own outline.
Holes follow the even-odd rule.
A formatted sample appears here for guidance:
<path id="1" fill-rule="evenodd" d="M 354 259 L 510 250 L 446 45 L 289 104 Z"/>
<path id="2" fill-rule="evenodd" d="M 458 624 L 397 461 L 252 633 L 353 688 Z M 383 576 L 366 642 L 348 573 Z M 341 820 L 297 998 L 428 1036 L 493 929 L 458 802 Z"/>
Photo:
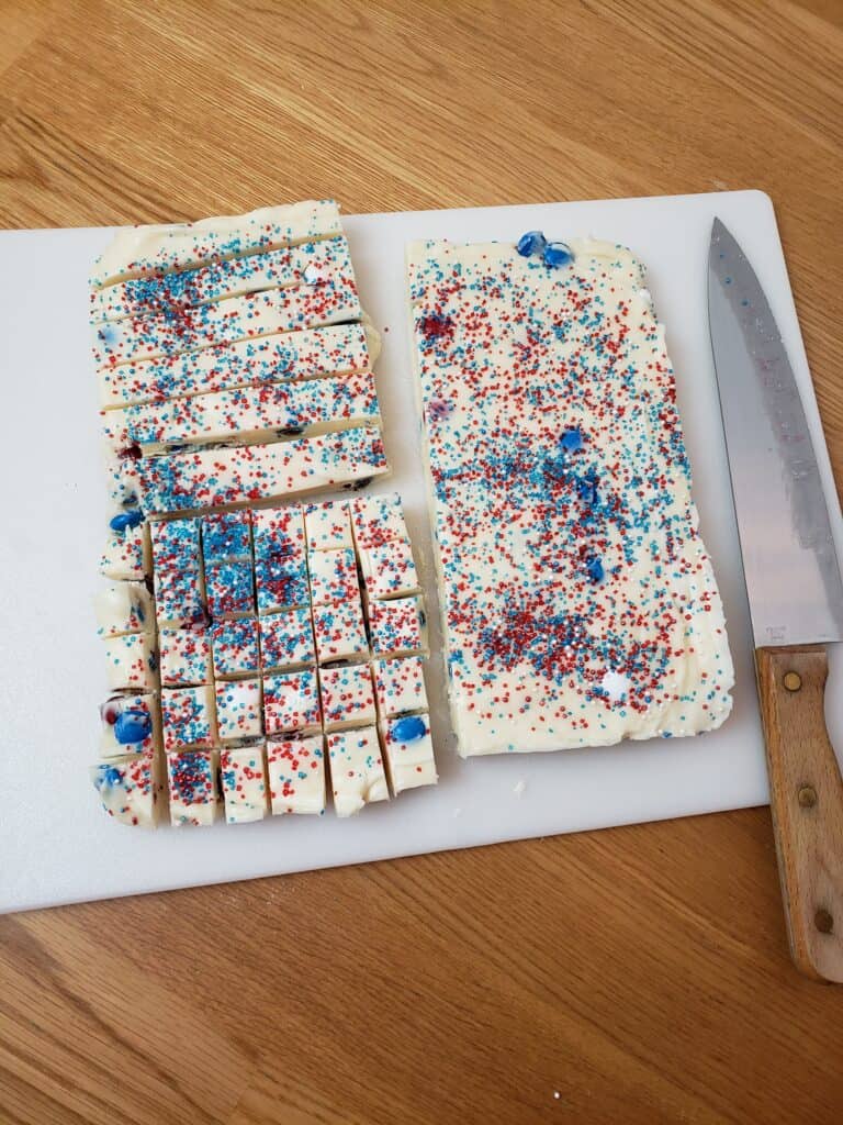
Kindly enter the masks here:
<path id="1" fill-rule="evenodd" d="M 262 386 L 371 370 L 375 351 L 361 324 L 256 336 L 160 359 L 142 359 L 99 372 L 103 410 L 181 395 Z"/>

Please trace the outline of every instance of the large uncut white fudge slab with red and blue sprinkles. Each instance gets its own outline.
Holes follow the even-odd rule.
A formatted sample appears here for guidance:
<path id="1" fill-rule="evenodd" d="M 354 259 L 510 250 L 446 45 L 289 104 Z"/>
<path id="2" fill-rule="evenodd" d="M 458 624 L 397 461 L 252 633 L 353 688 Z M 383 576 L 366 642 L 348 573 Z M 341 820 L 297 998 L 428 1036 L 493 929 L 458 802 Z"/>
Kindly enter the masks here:
<path id="1" fill-rule="evenodd" d="M 628 250 L 408 248 L 462 755 L 695 735 L 732 708 L 676 384 Z"/>

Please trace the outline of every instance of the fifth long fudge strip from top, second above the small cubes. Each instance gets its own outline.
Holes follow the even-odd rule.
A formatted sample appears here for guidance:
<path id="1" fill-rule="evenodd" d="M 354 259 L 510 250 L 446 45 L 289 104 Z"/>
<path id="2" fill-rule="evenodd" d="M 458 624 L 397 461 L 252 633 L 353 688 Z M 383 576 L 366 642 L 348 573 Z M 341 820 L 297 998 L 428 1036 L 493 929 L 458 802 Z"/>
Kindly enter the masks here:
<path id="1" fill-rule="evenodd" d="M 355 371 L 339 378 L 237 387 L 189 398 L 170 398 L 103 411 L 103 436 L 115 453 L 137 446 L 144 453 L 182 444 L 273 441 L 370 422 L 380 413 L 374 376 Z"/>

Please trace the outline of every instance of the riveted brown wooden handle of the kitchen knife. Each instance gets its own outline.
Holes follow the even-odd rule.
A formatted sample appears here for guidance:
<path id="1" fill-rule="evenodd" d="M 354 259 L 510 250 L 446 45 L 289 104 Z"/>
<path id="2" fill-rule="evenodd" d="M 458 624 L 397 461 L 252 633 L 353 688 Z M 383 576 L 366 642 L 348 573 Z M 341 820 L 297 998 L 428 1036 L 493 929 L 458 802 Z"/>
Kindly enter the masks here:
<path id="1" fill-rule="evenodd" d="M 843 982 L 843 780 L 825 726 L 822 645 L 755 651 L 790 953 Z"/>

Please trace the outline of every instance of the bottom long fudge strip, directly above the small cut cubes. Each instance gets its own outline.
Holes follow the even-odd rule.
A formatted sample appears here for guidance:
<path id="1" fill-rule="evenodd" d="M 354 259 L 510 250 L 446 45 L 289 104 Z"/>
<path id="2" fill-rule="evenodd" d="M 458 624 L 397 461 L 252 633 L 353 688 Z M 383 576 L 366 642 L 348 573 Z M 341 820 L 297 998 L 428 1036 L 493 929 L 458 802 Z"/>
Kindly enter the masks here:
<path id="1" fill-rule="evenodd" d="M 264 446 L 164 453 L 132 464 L 147 512 L 273 500 L 387 472 L 383 442 L 372 426 Z"/>

